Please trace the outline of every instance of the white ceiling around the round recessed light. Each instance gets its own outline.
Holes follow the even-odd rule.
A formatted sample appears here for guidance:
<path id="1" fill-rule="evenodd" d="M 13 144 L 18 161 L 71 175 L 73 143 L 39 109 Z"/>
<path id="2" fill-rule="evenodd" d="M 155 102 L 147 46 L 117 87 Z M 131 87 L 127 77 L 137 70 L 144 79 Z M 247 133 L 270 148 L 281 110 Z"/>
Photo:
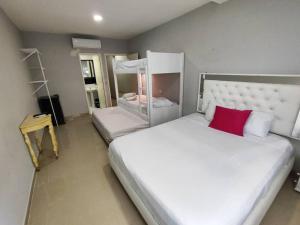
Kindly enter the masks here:
<path id="1" fill-rule="evenodd" d="M 24 31 L 131 38 L 210 1 L 224 0 L 0 0 Z M 93 14 L 103 21 L 95 23 Z"/>

